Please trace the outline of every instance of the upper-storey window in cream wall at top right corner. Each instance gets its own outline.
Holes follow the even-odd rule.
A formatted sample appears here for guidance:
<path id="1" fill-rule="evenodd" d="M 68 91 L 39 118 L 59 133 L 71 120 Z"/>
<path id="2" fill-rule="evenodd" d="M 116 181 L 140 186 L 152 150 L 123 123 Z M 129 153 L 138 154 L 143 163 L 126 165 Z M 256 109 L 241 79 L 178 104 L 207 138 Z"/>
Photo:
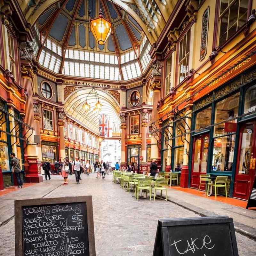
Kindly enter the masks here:
<path id="1" fill-rule="evenodd" d="M 219 45 L 227 41 L 239 30 L 247 19 L 248 0 L 220 1 L 220 41 Z"/>

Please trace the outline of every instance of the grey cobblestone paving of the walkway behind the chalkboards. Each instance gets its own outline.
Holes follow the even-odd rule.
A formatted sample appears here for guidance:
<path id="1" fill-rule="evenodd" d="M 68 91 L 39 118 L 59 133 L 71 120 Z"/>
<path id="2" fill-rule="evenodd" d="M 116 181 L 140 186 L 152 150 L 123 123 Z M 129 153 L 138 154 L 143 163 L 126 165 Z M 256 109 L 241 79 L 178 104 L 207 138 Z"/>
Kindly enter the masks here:
<path id="1" fill-rule="evenodd" d="M 112 175 L 106 175 L 105 180 L 95 177 L 95 174 L 89 177 L 83 174 L 81 184 L 76 185 L 72 176 L 68 186 L 58 187 L 62 180 L 59 176 L 52 176 L 47 182 L 56 183 L 56 189 L 45 197 L 92 195 L 97 256 L 151 256 L 159 218 L 197 216 L 159 199 L 155 202 L 140 199 L 137 202 L 131 193 L 112 183 Z M 256 255 L 255 241 L 238 233 L 236 239 L 240 256 Z M 0 226 L 0 255 L 14 254 L 14 219 L 11 219 Z"/>

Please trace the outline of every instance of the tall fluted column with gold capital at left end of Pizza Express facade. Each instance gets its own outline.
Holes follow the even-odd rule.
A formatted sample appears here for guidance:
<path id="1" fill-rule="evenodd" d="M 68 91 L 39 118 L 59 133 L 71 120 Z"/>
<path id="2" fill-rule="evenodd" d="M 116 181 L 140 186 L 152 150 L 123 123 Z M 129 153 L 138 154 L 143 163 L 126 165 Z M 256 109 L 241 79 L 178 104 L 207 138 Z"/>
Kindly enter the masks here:
<path id="1" fill-rule="evenodd" d="M 160 100 L 160 90 L 161 90 L 161 82 L 153 82 L 151 86 L 153 90 L 153 110 L 152 110 L 152 123 L 155 127 L 158 128 L 158 110 L 157 110 L 157 104 L 158 101 Z M 154 136 L 155 135 L 155 136 Z M 159 149 L 158 149 L 158 134 L 154 133 L 152 131 L 152 137 L 151 137 L 151 154 L 150 154 L 150 159 L 158 159 L 159 158 Z"/>

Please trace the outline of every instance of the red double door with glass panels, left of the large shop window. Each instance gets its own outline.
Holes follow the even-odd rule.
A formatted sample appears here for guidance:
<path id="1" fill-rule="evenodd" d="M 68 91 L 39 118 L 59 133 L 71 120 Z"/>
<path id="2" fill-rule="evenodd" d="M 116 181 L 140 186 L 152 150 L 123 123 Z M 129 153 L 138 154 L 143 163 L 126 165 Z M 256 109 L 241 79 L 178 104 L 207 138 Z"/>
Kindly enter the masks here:
<path id="1" fill-rule="evenodd" d="M 193 143 L 193 155 L 191 166 L 190 187 L 198 188 L 199 175 L 206 174 L 207 158 L 208 158 L 209 134 L 195 137 Z M 202 186 L 202 189 L 203 186 Z"/>

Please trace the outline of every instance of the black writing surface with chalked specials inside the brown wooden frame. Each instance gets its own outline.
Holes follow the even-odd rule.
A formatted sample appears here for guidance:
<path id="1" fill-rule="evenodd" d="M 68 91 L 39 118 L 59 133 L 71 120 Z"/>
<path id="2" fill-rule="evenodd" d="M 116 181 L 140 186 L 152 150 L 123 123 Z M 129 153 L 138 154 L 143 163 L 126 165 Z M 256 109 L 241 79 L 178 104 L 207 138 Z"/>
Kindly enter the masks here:
<path id="1" fill-rule="evenodd" d="M 86 203 L 22 207 L 24 256 L 89 255 Z"/>

